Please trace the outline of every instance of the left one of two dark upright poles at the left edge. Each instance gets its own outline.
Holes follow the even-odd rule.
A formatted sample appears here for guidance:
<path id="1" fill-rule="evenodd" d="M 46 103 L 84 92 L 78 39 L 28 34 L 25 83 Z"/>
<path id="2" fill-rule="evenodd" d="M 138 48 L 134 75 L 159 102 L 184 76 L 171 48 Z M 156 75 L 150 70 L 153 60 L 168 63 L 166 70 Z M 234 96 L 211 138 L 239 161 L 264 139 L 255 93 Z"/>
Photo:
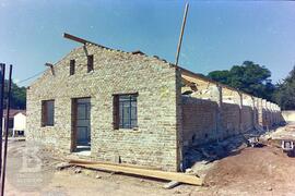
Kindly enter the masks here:
<path id="1" fill-rule="evenodd" d="M 3 135 L 3 100 L 5 84 L 5 64 L 0 64 L 0 177 L 2 175 L 2 135 Z"/>

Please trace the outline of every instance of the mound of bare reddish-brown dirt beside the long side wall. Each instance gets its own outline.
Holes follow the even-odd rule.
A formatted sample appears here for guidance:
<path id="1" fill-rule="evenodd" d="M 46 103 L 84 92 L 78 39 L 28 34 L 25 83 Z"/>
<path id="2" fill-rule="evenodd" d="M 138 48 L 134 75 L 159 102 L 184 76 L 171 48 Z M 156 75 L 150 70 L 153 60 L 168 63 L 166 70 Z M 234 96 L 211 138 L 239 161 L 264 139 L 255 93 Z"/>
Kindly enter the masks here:
<path id="1" fill-rule="evenodd" d="M 273 191 L 290 188 L 295 176 L 295 159 L 275 147 L 246 148 L 217 161 L 205 176 L 210 187 Z"/>

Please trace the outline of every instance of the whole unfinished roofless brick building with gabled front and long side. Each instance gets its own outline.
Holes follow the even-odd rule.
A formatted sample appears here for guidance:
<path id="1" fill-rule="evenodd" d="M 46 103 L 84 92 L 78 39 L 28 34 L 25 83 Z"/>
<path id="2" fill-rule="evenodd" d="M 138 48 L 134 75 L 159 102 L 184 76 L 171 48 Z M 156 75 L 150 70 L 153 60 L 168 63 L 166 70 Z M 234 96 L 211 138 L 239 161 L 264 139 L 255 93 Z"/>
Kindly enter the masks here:
<path id="1" fill-rule="evenodd" d="M 27 88 L 26 113 L 28 140 L 166 171 L 179 170 L 185 147 L 281 122 L 274 103 L 157 57 L 88 42 Z"/>

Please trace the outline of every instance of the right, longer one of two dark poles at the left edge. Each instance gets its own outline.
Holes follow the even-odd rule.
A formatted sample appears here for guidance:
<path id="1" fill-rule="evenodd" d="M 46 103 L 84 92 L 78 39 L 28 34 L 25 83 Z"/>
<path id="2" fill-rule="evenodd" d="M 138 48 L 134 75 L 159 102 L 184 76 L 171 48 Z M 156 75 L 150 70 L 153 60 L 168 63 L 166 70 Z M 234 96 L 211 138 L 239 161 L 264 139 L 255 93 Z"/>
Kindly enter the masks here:
<path id="1" fill-rule="evenodd" d="M 3 154 L 3 171 L 1 175 L 1 196 L 4 195 L 5 186 L 5 171 L 7 171 L 7 157 L 8 157 L 8 134 L 9 134 L 9 113 L 10 113 L 10 99 L 11 99 L 11 75 L 12 75 L 12 65 L 9 68 L 9 86 L 8 86 L 8 105 L 7 105 L 7 120 L 5 120 L 5 144 L 4 144 L 4 154 Z"/>

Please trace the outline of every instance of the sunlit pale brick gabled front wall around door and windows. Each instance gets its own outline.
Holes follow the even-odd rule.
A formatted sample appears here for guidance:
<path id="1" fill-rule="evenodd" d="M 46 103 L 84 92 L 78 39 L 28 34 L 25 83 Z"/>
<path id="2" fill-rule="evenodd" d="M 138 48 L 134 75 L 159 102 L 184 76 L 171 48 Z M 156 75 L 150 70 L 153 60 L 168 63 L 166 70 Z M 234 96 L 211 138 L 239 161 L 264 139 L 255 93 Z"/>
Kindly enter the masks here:
<path id="1" fill-rule="evenodd" d="M 94 54 L 87 73 L 86 54 Z M 70 75 L 70 60 L 75 74 Z M 72 50 L 27 89 L 27 139 L 66 154 L 72 99 L 91 97 L 91 158 L 176 171 L 179 167 L 179 72 L 165 61 L 93 45 Z M 113 95 L 138 93 L 138 128 L 114 130 Z M 55 125 L 42 127 L 42 100 L 55 100 Z"/>

